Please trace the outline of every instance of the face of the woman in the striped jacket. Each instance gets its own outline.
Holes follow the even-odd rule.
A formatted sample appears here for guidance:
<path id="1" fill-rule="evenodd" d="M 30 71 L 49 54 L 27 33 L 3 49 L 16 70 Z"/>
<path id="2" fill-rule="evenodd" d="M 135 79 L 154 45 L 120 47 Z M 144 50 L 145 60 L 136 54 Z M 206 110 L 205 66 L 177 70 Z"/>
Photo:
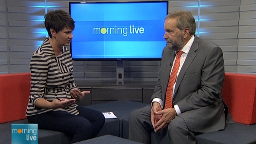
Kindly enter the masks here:
<path id="1" fill-rule="evenodd" d="M 72 29 L 65 27 L 58 33 L 56 33 L 56 41 L 60 46 L 69 46 L 71 39 L 73 38 Z"/>

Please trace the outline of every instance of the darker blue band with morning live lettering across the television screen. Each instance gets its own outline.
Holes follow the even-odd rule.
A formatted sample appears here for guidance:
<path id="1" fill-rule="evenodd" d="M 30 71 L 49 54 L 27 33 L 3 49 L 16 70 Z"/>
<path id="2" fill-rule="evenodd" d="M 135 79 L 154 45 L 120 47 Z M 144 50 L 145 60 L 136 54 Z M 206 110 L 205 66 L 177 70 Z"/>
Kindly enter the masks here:
<path id="1" fill-rule="evenodd" d="M 163 19 L 77 21 L 72 41 L 165 41 Z"/>

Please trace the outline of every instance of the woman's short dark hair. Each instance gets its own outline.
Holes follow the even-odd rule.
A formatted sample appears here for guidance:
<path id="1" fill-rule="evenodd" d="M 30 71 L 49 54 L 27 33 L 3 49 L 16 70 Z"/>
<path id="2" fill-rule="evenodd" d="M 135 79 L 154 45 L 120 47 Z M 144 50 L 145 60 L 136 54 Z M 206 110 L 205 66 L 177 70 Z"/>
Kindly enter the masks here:
<path id="1" fill-rule="evenodd" d="M 48 12 L 44 16 L 44 25 L 50 38 L 52 38 L 51 28 L 53 28 L 56 33 L 65 27 L 71 28 L 72 30 L 75 29 L 75 21 L 63 10 Z"/>

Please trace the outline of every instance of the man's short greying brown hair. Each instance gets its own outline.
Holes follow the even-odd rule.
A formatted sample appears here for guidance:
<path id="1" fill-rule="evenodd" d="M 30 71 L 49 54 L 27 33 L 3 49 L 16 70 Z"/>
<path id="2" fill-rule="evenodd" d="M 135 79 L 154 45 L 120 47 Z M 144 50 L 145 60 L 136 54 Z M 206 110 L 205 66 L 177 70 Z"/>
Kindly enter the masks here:
<path id="1" fill-rule="evenodd" d="M 193 35 L 196 33 L 196 21 L 193 15 L 189 11 L 174 11 L 172 13 L 169 13 L 165 17 L 165 20 L 170 18 L 177 18 L 178 29 L 183 30 L 185 28 L 189 28 L 190 35 Z"/>

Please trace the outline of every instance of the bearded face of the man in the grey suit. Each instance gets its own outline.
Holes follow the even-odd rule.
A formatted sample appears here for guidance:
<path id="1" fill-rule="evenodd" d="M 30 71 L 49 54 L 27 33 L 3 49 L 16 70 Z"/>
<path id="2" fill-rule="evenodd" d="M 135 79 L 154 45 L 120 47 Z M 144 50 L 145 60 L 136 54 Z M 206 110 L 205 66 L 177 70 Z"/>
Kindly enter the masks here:
<path id="1" fill-rule="evenodd" d="M 165 25 L 165 38 L 167 47 L 173 49 L 174 51 L 180 51 L 183 48 L 183 35 L 182 31 L 177 28 L 176 18 L 166 19 Z"/>

